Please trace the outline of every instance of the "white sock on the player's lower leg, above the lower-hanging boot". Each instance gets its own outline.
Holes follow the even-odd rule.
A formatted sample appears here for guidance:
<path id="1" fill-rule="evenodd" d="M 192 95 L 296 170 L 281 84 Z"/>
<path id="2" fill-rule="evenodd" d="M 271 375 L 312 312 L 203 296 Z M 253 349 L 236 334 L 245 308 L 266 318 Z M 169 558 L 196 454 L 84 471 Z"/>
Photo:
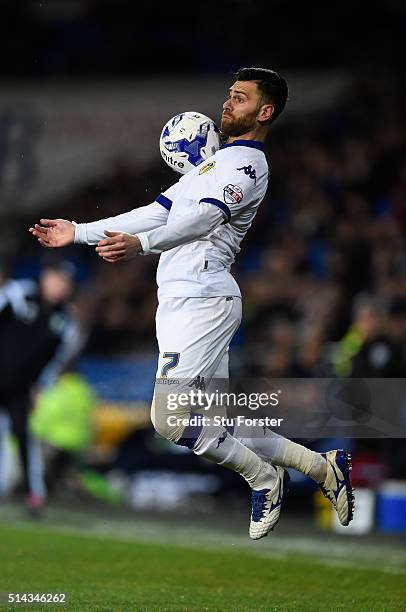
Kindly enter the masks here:
<path id="1" fill-rule="evenodd" d="M 213 432 L 213 428 L 203 427 L 193 452 L 241 474 L 251 489 L 272 489 L 275 485 L 275 468 L 225 430 Z"/>

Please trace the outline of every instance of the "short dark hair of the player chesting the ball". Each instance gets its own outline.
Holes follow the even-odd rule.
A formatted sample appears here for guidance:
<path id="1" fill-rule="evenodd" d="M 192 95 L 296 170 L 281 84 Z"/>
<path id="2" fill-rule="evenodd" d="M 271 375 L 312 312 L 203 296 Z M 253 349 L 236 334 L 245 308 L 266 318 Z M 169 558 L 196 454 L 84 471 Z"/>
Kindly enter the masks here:
<path id="1" fill-rule="evenodd" d="M 237 81 L 257 83 L 263 99 L 271 101 L 274 105 L 274 113 L 266 121 L 267 124 L 273 123 L 285 108 L 288 99 L 288 84 L 283 76 L 268 68 L 240 68 L 234 76 Z"/>

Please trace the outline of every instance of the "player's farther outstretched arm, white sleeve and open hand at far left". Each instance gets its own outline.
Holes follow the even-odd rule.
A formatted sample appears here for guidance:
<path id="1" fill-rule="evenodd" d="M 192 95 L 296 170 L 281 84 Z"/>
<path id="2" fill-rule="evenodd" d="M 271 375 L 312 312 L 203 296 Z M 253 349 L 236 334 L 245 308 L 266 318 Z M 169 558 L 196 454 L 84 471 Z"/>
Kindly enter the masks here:
<path id="1" fill-rule="evenodd" d="M 92 223 L 74 223 L 65 219 L 41 219 L 30 232 L 44 247 L 63 247 L 69 244 L 97 244 L 106 238 L 105 230 L 136 234 L 165 225 L 172 205 L 176 184 L 155 202 L 129 212 Z"/>

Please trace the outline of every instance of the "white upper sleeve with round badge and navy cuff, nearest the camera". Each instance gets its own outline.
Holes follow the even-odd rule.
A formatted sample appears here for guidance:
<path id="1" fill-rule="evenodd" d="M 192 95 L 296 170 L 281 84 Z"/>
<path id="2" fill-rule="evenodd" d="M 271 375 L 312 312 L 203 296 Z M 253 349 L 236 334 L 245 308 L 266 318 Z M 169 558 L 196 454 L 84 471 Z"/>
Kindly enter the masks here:
<path id="1" fill-rule="evenodd" d="M 263 197 L 253 164 L 242 166 L 238 160 L 217 162 L 212 168 L 210 163 L 203 166 L 196 175 L 195 186 L 197 202 L 220 209 L 224 223 L 230 222 L 247 206 L 259 203 Z"/>

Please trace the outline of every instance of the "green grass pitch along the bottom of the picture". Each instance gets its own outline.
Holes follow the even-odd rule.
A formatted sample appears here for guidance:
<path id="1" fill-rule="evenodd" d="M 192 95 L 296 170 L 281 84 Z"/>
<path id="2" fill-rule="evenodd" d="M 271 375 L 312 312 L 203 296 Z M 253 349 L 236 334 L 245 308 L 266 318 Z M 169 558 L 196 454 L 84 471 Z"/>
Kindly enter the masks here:
<path id="1" fill-rule="evenodd" d="M 162 522 L 165 518 L 162 518 Z M 136 521 L 135 521 L 136 522 Z M 117 528 L 118 529 L 118 528 Z M 114 531 L 114 529 L 113 529 Z M 305 554 L 272 557 L 272 541 L 209 547 L 126 539 L 120 531 L 0 523 L 0 593 L 66 592 L 68 604 L 7 610 L 404 610 L 403 570 L 328 565 Z M 384 561 L 384 559 L 383 559 Z M 356 564 L 358 565 L 358 564 Z"/>

